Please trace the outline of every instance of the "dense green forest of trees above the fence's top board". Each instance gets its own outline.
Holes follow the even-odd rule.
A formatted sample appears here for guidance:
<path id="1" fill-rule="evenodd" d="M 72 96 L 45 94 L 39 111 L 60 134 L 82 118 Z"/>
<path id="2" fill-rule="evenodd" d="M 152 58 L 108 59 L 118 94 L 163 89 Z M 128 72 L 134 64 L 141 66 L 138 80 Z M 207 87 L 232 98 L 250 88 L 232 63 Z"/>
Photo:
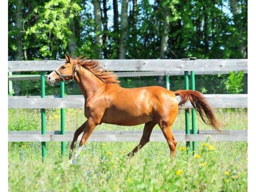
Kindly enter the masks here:
<path id="1" fill-rule="evenodd" d="M 247 0 L 8 0 L 8 60 L 247 58 Z"/>

